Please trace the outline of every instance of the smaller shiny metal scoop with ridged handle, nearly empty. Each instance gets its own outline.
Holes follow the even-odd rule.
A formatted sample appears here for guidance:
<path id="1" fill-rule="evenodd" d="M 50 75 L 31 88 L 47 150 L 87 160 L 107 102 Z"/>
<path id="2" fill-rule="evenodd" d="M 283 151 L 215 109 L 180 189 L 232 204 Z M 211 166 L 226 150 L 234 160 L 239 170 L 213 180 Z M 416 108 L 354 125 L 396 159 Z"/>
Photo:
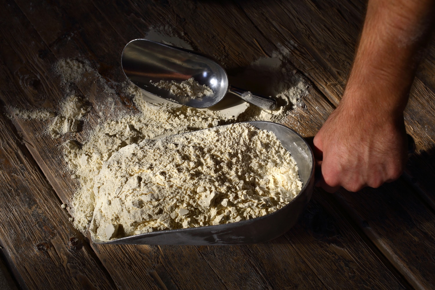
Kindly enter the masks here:
<path id="1" fill-rule="evenodd" d="M 142 90 L 157 97 L 194 108 L 207 108 L 217 104 L 229 92 L 262 109 L 274 110 L 275 99 L 255 95 L 228 83 L 225 70 L 213 60 L 190 50 L 172 47 L 147 39 L 135 39 L 127 43 L 121 56 L 125 76 Z M 203 97 L 180 96 L 152 83 L 194 78 L 206 85 L 213 93 Z"/>

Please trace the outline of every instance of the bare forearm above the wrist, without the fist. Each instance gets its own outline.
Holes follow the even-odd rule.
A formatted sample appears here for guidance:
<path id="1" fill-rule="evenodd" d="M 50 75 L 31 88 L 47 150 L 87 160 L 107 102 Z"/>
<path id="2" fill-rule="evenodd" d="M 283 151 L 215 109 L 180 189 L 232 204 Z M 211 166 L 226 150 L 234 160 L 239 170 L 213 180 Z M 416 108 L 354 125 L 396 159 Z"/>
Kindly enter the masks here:
<path id="1" fill-rule="evenodd" d="M 369 0 L 342 103 L 400 116 L 427 39 L 433 0 Z"/>

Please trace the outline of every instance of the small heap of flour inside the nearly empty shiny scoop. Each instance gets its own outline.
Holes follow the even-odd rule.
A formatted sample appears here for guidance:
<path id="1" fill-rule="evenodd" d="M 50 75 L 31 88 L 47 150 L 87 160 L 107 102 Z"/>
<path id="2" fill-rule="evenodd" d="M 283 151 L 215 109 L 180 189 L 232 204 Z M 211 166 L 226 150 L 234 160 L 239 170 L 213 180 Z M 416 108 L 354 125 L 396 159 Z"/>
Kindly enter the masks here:
<path id="1" fill-rule="evenodd" d="M 169 90 L 176 96 L 186 96 L 191 98 L 210 96 L 213 91 L 206 85 L 201 85 L 193 77 L 188 80 L 184 80 L 181 83 L 176 81 L 161 80 L 157 83 L 152 83 L 154 86 Z"/>

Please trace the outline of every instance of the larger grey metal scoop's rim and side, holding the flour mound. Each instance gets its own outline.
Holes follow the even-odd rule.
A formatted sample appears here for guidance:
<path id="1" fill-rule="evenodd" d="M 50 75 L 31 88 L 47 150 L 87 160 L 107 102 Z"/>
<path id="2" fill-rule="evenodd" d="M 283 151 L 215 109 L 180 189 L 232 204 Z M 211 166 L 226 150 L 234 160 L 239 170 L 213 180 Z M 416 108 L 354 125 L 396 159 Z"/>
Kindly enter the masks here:
<path id="1" fill-rule="evenodd" d="M 142 233 L 105 242 L 107 244 L 157 244 L 157 245 L 241 245 L 261 243 L 281 236 L 297 222 L 304 211 L 314 187 L 314 156 L 307 142 L 294 130 L 278 123 L 248 122 L 278 137 L 298 165 L 303 183 L 301 192 L 285 207 L 262 217 L 224 223 L 216 226 L 192 227 Z M 223 125 L 225 126 L 225 125 Z M 189 134 L 189 133 L 184 133 Z M 104 243 L 93 240 L 94 243 Z"/>

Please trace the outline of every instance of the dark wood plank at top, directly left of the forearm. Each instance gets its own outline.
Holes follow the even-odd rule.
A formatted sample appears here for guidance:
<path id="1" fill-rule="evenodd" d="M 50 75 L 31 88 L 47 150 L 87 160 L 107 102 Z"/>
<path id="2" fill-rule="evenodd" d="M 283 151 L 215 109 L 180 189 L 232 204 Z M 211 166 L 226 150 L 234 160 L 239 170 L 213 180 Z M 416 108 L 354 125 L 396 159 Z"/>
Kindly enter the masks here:
<path id="1" fill-rule="evenodd" d="M 239 5 L 269 41 L 290 50 L 288 57 L 295 67 L 336 105 L 351 67 L 364 12 L 353 2 L 254 1 Z M 355 13 L 359 17 L 354 17 Z"/>

